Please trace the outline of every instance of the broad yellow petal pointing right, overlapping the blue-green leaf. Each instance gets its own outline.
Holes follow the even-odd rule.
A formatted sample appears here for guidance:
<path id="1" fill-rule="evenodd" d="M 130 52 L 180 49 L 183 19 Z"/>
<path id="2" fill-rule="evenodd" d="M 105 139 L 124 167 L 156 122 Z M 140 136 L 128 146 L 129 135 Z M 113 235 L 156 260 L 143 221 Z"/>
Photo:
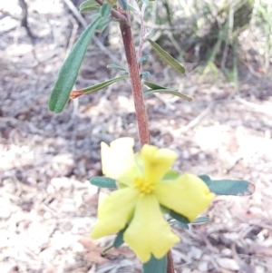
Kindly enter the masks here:
<path id="1" fill-rule="evenodd" d="M 215 196 L 199 177 L 189 173 L 177 180 L 158 183 L 154 194 L 161 205 L 182 214 L 189 221 L 196 219 Z"/>

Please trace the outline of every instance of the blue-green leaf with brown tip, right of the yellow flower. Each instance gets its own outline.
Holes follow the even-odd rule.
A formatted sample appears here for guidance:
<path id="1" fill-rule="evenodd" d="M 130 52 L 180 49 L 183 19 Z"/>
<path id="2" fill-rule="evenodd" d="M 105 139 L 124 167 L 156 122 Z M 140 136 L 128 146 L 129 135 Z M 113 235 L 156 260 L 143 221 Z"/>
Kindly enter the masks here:
<path id="1" fill-rule="evenodd" d="M 247 180 L 211 180 L 208 175 L 200 175 L 209 190 L 218 195 L 238 195 L 244 196 L 252 194 L 255 191 L 254 184 Z"/>

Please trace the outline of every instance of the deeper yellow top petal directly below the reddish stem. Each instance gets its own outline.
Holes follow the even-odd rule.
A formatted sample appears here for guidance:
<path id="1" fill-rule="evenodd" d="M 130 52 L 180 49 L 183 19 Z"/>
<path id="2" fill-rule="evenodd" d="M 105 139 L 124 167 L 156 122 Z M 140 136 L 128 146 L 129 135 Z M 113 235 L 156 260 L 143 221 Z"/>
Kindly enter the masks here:
<path id="1" fill-rule="evenodd" d="M 147 180 L 159 182 L 167 171 L 170 170 L 178 155 L 169 149 L 158 149 L 145 144 L 141 149 L 144 177 Z"/>

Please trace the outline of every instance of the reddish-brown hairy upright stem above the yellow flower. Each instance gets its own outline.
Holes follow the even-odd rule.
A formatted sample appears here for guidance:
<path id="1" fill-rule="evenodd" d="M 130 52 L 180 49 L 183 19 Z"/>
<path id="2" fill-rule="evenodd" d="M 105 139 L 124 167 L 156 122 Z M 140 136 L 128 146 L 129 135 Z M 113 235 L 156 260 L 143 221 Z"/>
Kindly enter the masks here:
<path id="1" fill-rule="evenodd" d="M 137 57 L 135 52 L 135 45 L 132 39 L 131 33 L 131 21 L 130 16 L 127 11 L 124 11 L 119 6 L 119 13 L 126 18 L 126 22 L 120 22 L 121 38 L 124 45 L 124 50 L 126 54 L 126 59 L 129 67 L 130 77 L 131 77 L 131 89 L 134 99 L 136 119 L 138 124 L 138 132 L 141 146 L 144 144 L 150 144 L 150 132 L 149 124 L 147 119 L 147 113 L 145 109 L 145 104 L 143 100 L 143 94 L 141 90 L 141 77 L 139 66 L 137 63 Z"/>

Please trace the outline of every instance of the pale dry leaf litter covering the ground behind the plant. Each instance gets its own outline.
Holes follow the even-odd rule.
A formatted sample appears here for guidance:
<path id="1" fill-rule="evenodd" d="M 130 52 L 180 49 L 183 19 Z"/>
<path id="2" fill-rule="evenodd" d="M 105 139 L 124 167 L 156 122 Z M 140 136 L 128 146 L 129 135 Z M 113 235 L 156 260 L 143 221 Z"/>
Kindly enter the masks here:
<path id="1" fill-rule="evenodd" d="M 38 36 L 34 44 L 23 27 L 15 33 L 20 10 L 4 6 L 11 23 L 0 42 L 0 271 L 140 272 L 127 247 L 101 256 L 114 237 L 89 238 L 98 191 L 88 180 L 101 175 L 100 142 L 137 139 L 129 85 L 116 83 L 69 102 L 61 114 L 49 112 L 53 79 L 77 25 L 61 2 L 47 5 L 51 8 L 35 0 L 29 7 Z M 121 56 L 111 38 L 110 49 Z M 91 45 L 87 56 L 77 89 L 115 76 L 105 68 L 111 60 L 97 46 Z M 154 65 L 158 72 L 151 81 L 179 83 L 193 102 L 170 94 L 148 97 L 152 143 L 179 153 L 177 170 L 256 186 L 252 196 L 218 197 L 205 214 L 208 224 L 176 229 L 181 238 L 173 250 L 177 273 L 272 271 L 271 80 L 242 79 L 237 94 L 222 79 L 176 78 L 160 63 Z"/>

